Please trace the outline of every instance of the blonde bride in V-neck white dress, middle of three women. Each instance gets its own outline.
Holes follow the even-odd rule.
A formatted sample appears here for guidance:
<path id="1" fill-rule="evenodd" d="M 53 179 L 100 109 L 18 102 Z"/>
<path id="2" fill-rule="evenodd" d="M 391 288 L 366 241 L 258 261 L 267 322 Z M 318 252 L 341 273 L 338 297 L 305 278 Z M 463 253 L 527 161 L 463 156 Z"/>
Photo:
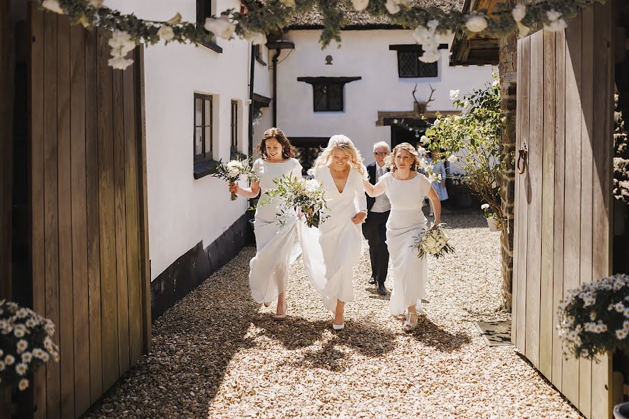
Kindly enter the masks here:
<path id="1" fill-rule="evenodd" d="M 317 238 L 308 239 L 308 234 L 312 235 L 317 229 L 304 229 L 304 264 L 325 307 L 334 313 L 332 327 L 342 330 L 345 328 L 345 302 L 354 301 L 354 266 L 362 252 L 361 224 L 367 218 L 363 179 L 367 171 L 352 140 L 345 135 L 334 135 L 310 173 L 324 184 L 327 208 L 321 210 L 319 249 L 315 243 Z"/>

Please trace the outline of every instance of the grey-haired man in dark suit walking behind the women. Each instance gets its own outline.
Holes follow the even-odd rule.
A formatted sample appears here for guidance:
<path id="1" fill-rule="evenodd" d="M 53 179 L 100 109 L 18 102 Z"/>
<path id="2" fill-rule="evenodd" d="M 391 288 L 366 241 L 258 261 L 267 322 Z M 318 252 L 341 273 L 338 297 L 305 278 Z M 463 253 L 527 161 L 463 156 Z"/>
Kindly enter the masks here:
<path id="1" fill-rule="evenodd" d="M 386 142 L 377 142 L 373 145 L 375 162 L 367 166 L 369 182 L 376 184 L 378 179 L 389 171 L 384 163 L 384 158 L 391 153 L 391 147 Z M 367 219 L 363 223 L 363 235 L 369 243 L 369 257 L 371 258 L 370 284 L 377 284 L 378 293 L 386 295 L 384 281 L 386 270 L 389 268 L 389 249 L 386 248 L 386 220 L 389 219 L 391 204 L 389 198 L 382 194 L 376 198 L 367 196 Z"/>

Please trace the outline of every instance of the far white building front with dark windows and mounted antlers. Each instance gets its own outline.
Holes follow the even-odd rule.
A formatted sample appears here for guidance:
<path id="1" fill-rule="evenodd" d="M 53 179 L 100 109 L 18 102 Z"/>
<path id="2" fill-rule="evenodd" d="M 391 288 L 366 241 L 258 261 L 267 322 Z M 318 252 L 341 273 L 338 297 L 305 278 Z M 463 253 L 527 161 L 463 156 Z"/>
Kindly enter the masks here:
<path id="1" fill-rule="evenodd" d="M 308 154 L 300 155 L 305 160 L 334 134 L 351 138 L 366 163 L 375 142 L 414 144 L 417 134 L 402 126 L 426 126 L 422 116 L 456 112 L 450 90 L 465 94 L 492 81 L 491 66 L 449 66 L 450 44 L 441 46 L 437 63 L 421 63 L 421 45 L 410 30 L 343 31 L 342 43 L 325 50 L 320 35 L 317 29 L 291 29 L 284 39 L 294 50 L 280 50 L 278 57 L 277 126 Z M 256 131 L 263 131 L 260 125 Z"/>

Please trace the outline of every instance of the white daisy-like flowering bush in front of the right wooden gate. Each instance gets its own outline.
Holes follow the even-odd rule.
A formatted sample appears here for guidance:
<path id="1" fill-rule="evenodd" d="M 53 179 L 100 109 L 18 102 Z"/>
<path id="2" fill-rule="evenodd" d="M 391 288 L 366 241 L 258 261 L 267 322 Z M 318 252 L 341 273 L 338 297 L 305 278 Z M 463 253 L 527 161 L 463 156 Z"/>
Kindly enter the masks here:
<path id="1" fill-rule="evenodd" d="M 619 348 L 629 354 L 629 276 L 616 274 L 570 291 L 558 317 L 567 353 L 593 359 Z"/>

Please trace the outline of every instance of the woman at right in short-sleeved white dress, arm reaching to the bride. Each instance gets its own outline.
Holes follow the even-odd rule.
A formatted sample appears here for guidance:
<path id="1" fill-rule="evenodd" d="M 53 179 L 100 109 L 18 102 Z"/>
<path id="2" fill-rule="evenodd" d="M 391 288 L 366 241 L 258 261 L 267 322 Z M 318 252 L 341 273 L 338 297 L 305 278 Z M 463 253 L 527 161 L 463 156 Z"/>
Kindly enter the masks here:
<path id="1" fill-rule="evenodd" d="M 424 196 L 431 200 L 435 223 L 441 222 L 441 203 L 428 178 L 417 172 L 417 150 L 403 142 L 391 152 L 391 170 L 375 185 L 363 182 L 369 196 L 386 193 L 391 202 L 391 214 L 386 223 L 386 245 L 393 268 L 393 291 L 389 309 L 393 316 L 407 312 L 403 330 L 417 328 L 417 312 L 424 313 L 421 299 L 426 295 L 426 256 L 417 257 L 412 249 L 414 238 L 428 229 L 426 216 L 421 212 Z"/>

